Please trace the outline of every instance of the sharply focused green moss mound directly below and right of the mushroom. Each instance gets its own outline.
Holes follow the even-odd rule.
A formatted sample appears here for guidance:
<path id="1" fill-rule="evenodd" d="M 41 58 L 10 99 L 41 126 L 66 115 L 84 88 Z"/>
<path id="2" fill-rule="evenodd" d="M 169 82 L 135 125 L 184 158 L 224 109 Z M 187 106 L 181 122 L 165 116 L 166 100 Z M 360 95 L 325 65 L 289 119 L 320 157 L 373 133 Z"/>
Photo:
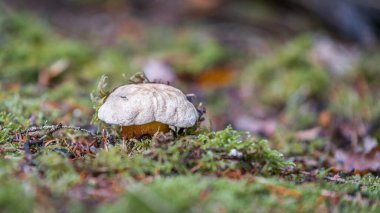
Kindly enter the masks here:
<path id="1" fill-rule="evenodd" d="M 279 173 L 294 164 L 269 148 L 268 141 L 254 140 L 246 133 L 233 130 L 185 136 L 167 143 L 149 142 L 136 146 L 128 155 L 121 145 L 102 150 L 87 166 L 94 171 L 128 175 L 174 175 L 221 173 L 242 170 L 247 173 Z M 237 153 L 237 154 L 231 154 Z"/>

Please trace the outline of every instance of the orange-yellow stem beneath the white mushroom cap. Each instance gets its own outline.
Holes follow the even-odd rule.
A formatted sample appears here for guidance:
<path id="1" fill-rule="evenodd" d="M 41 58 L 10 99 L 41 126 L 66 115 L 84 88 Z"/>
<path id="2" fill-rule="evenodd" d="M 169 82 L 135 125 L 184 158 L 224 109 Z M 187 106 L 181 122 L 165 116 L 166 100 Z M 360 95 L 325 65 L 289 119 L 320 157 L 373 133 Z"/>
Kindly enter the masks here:
<path id="1" fill-rule="evenodd" d="M 153 136 L 156 132 L 169 132 L 169 130 L 169 125 L 154 121 L 142 125 L 122 126 L 121 135 L 125 139 L 131 139 L 144 135 Z"/>

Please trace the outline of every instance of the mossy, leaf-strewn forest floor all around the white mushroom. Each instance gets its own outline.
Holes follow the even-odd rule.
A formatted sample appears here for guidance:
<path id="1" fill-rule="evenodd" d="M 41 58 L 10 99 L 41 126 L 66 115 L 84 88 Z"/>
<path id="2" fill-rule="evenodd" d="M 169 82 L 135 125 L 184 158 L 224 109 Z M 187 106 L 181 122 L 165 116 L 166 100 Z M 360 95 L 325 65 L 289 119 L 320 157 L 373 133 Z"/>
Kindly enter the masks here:
<path id="1" fill-rule="evenodd" d="M 1 6 L 0 212 L 380 211 L 380 49 L 267 13 L 248 28 Z M 100 127 L 100 90 L 143 70 L 196 95 L 197 129 Z"/>

